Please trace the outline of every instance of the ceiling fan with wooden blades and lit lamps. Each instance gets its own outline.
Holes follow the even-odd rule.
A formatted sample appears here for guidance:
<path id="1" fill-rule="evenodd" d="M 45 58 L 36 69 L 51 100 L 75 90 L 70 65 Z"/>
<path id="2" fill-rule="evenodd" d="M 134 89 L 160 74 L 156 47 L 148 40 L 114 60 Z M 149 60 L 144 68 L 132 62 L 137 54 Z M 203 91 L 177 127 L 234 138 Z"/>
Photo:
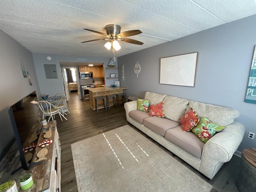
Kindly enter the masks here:
<path id="1" fill-rule="evenodd" d="M 87 42 L 98 41 L 98 40 L 110 40 L 109 42 L 107 42 L 105 44 L 105 47 L 108 50 L 110 50 L 110 48 L 112 48 L 113 50 L 114 49 L 119 50 L 121 48 L 116 40 L 123 41 L 123 42 L 126 42 L 126 43 L 137 44 L 137 45 L 142 45 L 143 44 L 142 42 L 134 40 L 134 39 L 124 38 L 124 37 L 134 36 L 134 35 L 138 35 L 138 34 L 142 33 L 140 30 L 130 30 L 130 31 L 125 31 L 125 32 L 120 33 L 121 32 L 121 27 L 119 25 L 116 25 L 116 24 L 107 25 L 105 27 L 105 29 L 106 29 L 106 34 L 102 33 L 102 32 L 98 32 L 98 31 L 94 31 L 94 30 L 91 30 L 91 29 L 84 29 L 84 30 L 87 30 L 87 31 L 91 31 L 91 32 L 94 32 L 94 33 L 104 35 L 104 36 L 106 36 L 106 38 L 94 39 L 94 40 L 84 41 L 84 42 L 81 42 L 81 43 L 87 43 Z"/>

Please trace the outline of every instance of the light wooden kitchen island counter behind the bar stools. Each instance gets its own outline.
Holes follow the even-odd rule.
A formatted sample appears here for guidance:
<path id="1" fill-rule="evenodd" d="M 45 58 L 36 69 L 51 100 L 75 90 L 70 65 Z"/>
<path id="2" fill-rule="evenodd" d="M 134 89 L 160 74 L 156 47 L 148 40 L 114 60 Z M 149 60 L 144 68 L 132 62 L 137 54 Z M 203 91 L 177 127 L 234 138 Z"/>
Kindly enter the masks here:
<path id="1" fill-rule="evenodd" d="M 96 101 L 95 97 L 99 96 L 106 96 L 106 95 L 112 95 L 117 93 L 123 93 L 124 89 L 127 89 L 127 87 L 99 87 L 99 88 L 88 88 L 89 90 L 89 96 L 90 96 L 90 104 L 93 109 L 96 109 Z M 112 101 L 112 98 L 110 98 L 110 101 Z M 101 101 L 99 101 L 101 102 Z M 99 104 L 102 104 L 99 103 Z M 113 104 L 110 104 L 110 106 L 113 106 Z"/>

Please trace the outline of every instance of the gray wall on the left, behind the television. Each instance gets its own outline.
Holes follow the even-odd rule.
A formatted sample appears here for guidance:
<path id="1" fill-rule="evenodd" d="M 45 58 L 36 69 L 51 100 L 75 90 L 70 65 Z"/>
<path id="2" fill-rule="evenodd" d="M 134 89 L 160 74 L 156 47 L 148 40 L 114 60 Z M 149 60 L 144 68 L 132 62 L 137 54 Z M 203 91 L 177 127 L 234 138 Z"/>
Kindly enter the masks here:
<path id="1" fill-rule="evenodd" d="M 24 78 L 21 61 L 29 71 L 32 86 L 28 78 Z M 10 106 L 38 90 L 38 80 L 34 67 L 32 52 L 0 30 L 0 156 L 3 150 L 14 139 L 8 109 Z M 35 120 L 35 123 L 36 120 Z"/>

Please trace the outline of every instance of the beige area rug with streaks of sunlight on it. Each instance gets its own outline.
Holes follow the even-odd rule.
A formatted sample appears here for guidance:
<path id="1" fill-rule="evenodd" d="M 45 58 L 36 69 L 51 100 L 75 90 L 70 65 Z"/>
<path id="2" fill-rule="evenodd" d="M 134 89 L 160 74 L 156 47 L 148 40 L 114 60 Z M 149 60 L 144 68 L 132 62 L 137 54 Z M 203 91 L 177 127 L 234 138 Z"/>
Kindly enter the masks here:
<path id="1" fill-rule="evenodd" d="M 79 192 L 209 192 L 212 186 L 129 125 L 71 144 Z"/>

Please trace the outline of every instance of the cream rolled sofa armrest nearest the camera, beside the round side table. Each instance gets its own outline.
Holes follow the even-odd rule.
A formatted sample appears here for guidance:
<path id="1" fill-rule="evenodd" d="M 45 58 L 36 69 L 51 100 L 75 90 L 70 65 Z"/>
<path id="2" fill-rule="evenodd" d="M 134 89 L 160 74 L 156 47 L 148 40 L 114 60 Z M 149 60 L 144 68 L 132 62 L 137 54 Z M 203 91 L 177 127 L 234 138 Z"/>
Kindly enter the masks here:
<path id="1" fill-rule="evenodd" d="M 234 121 L 232 124 L 213 136 L 204 145 L 199 171 L 212 173 L 212 177 L 224 162 L 228 162 L 244 137 L 245 127 Z M 211 176 L 208 176 L 211 178 Z"/>

